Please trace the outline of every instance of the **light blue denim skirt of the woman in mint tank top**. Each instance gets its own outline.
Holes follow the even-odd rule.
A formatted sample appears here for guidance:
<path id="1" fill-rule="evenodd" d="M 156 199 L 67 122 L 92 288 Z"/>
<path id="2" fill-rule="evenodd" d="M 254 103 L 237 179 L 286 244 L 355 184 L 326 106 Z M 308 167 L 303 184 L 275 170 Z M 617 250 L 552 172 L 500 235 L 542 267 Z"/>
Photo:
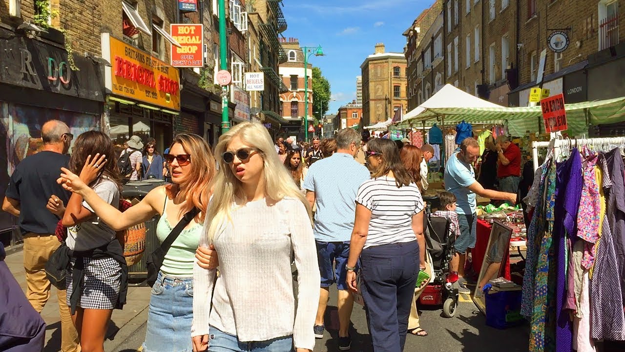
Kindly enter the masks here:
<path id="1" fill-rule="evenodd" d="M 152 287 L 144 352 L 192 352 L 193 278 L 163 272 Z"/>

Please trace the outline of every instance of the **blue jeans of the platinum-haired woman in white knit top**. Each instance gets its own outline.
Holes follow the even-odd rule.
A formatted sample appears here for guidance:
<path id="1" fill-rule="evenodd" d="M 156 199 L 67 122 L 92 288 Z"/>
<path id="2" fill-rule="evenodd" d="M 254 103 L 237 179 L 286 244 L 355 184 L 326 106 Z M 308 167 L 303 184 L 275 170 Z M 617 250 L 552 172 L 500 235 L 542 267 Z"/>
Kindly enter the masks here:
<path id="1" fill-rule="evenodd" d="M 211 326 L 208 340 L 208 352 L 291 352 L 293 336 L 270 339 L 267 341 L 242 342 L 231 334 Z"/>

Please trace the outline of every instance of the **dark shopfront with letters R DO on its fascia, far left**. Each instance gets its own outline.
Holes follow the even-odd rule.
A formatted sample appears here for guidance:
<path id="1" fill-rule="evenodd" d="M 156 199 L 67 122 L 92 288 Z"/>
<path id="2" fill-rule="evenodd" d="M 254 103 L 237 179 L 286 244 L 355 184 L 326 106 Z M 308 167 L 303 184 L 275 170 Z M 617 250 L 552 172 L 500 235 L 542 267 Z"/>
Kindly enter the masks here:
<path id="1" fill-rule="evenodd" d="M 68 58 L 64 46 L 0 28 L 0 197 L 17 164 L 41 147 L 41 126 L 61 120 L 77 136 L 101 128 L 103 77 L 99 64 Z M 62 37 L 61 37 L 62 38 Z M 0 241 L 21 241 L 14 219 L 0 210 Z M 13 231 L 11 231 L 13 229 Z"/>

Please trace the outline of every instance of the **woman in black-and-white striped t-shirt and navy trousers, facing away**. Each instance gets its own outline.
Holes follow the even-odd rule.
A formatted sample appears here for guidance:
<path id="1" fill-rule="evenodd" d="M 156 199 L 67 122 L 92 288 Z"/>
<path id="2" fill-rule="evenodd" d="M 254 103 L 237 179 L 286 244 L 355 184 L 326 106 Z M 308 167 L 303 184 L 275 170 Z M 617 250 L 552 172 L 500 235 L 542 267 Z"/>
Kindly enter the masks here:
<path id="1" fill-rule="evenodd" d="M 347 260 L 347 286 L 357 292 L 360 257 L 362 297 L 374 351 L 400 352 L 419 268 L 425 267 L 423 199 L 406 171 L 394 142 L 367 143 L 372 179 L 356 196 L 356 220 Z"/>

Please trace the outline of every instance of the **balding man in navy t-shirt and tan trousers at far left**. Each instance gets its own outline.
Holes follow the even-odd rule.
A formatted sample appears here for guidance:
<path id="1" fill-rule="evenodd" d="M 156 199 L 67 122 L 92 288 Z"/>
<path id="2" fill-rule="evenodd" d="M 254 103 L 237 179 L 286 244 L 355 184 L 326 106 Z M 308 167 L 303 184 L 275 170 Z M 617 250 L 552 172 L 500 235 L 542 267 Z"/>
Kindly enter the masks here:
<path id="1" fill-rule="evenodd" d="M 24 236 L 24 270 L 26 271 L 26 298 L 39 313 L 50 298 L 51 284 L 44 267 L 50 256 L 61 245 L 54 236 L 59 217 L 46 209 L 52 196 L 67 204 L 69 192 L 56 183 L 61 167 L 69 162 L 69 145 L 74 136 L 69 127 L 51 120 L 41 127 L 41 152 L 24 158 L 11 175 L 2 210 L 18 218 Z M 78 333 L 72 323 L 66 303 L 66 292 L 57 290 L 61 314 L 61 350 L 80 351 Z"/>

